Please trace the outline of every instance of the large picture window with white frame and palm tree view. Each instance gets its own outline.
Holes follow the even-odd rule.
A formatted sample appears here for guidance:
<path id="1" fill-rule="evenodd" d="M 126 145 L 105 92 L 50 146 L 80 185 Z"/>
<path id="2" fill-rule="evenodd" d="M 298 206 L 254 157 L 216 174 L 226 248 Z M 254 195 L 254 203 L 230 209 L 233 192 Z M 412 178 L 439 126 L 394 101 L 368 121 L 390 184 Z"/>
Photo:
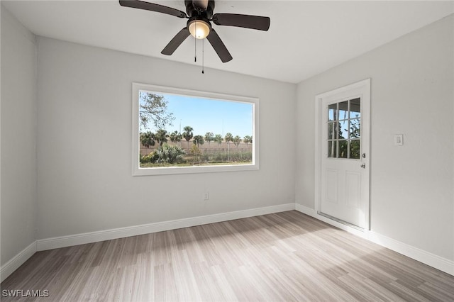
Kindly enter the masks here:
<path id="1" fill-rule="evenodd" d="M 258 99 L 133 83 L 133 175 L 258 169 Z"/>

